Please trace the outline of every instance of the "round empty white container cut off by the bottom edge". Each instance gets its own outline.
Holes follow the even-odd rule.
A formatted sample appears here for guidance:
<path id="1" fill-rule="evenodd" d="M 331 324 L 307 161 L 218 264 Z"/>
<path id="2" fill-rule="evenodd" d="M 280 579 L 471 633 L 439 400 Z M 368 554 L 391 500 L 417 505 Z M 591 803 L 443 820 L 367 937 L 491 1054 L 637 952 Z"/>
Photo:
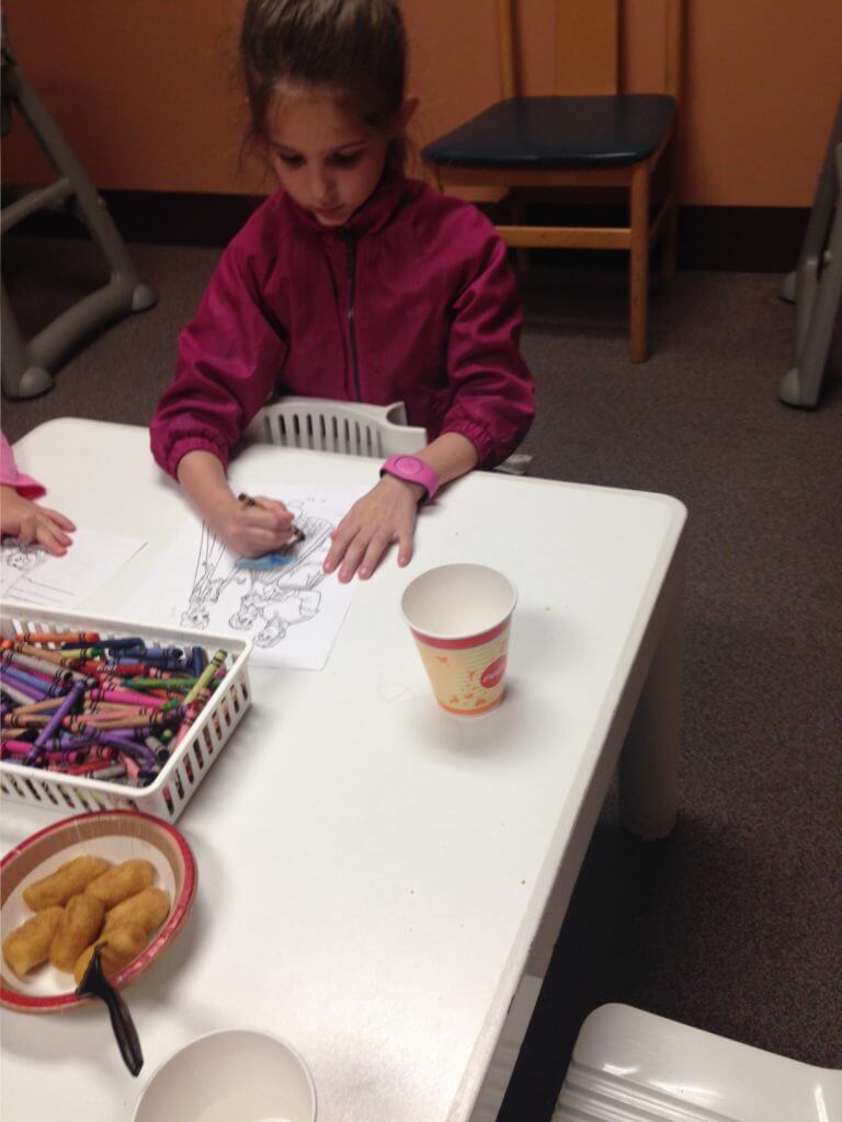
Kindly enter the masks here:
<path id="1" fill-rule="evenodd" d="M 315 1122 L 315 1087 L 304 1060 L 280 1037 L 222 1029 L 164 1060 L 134 1122 Z"/>

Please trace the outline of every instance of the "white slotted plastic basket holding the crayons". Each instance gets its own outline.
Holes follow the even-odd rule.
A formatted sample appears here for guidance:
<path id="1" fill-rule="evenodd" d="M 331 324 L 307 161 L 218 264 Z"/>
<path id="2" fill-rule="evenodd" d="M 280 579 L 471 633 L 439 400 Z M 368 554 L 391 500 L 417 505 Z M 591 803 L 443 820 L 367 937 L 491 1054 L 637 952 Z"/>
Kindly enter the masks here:
<path id="1" fill-rule="evenodd" d="M 146 643 L 203 646 L 205 650 L 221 647 L 228 652 L 225 661 L 226 675 L 191 726 L 189 735 L 174 749 L 161 774 L 149 787 L 127 787 L 108 780 L 88 779 L 83 775 L 68 776 L 43 767 L 25 767 L 0 761 L 2 797 L 64 815 L 73 811 L 130 809 L 143 810 L 174 822 L 193 798 L 196 788 L 251 703 L 247 669 L 251 643 L 230 635 L 149 627 L 126 619 L 106 619 L 101 616 L 77 615 L 52 608 L 36 608 L 31 605 L 0 606 L 0 633 L 3 638 L 10 638 L 16 632 L 61 634 L 79 629 L 97 631 L 103 638 L 138 635 Z"/>

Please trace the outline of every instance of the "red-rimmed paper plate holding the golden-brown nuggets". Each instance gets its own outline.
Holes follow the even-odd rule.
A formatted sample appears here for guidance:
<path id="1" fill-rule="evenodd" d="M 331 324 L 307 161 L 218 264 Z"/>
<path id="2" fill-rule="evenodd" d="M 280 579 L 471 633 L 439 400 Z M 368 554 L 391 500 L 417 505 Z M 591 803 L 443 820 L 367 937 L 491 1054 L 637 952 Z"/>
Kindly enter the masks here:
<path id="1" fill-rule="evenodd" d="M 170 914 L 147 947 L 110 977 L 117 988 L 148 969 L 170 946 L 187 918 L 196 890 L 195 861 L 190 846 L 168 822 L 136 810 L 108 810 L 65 818 L 21 842 L 0 864 L 0 925 L 3 939 L 34 912 L 24 902 L 24 889 L 54 873 L 74 857 L 103 857 L 113 864 L 141 857 L 155 867 L 155 885 L 170 895 Z M 77 997 L 72 974 L 49 963 L 18 977 L 2 959 L 0 1004 L 24 1013 L 54 1013 L 85 1004 Z"/>

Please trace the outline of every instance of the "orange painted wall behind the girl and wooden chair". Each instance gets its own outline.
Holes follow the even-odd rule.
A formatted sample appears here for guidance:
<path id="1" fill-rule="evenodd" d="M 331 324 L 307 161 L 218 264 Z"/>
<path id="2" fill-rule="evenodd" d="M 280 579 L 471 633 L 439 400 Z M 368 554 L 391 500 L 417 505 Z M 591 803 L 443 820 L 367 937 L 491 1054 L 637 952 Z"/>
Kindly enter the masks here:
<path id="1" fill-rule="evenodd" d="M 241 0 L 7 0 L 21 64 L 100 188 L 250 193 L 232 85 Z M 423 144 L 497 96 L 493 0 L 403 0 Z M 525 92 L 551 81 L 552 0 L 521 0 Z M 662 0 L 624 0 L 628 88 L 658 88 Z M 842 72 L 839 0 L 687 0 L 681 201 L 807 206 Z M 3 181 L 47 182 L 19 123 Z M 265 181 L 264 181 L 265 182 Z"/>

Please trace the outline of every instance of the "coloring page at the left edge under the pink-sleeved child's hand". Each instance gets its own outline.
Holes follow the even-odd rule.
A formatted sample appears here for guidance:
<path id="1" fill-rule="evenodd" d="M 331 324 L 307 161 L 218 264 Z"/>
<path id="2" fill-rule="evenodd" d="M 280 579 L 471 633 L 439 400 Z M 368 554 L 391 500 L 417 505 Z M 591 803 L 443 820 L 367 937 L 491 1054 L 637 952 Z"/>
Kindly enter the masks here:
<path id="1" fill-rule="evenodd" d="M 0 591 L 3 599 L 71 608 L 90 596 L 146 544 L 143 539 L 79 526 L 73 544 L 56 558 L 40 545 L 3 539 Z"/>

